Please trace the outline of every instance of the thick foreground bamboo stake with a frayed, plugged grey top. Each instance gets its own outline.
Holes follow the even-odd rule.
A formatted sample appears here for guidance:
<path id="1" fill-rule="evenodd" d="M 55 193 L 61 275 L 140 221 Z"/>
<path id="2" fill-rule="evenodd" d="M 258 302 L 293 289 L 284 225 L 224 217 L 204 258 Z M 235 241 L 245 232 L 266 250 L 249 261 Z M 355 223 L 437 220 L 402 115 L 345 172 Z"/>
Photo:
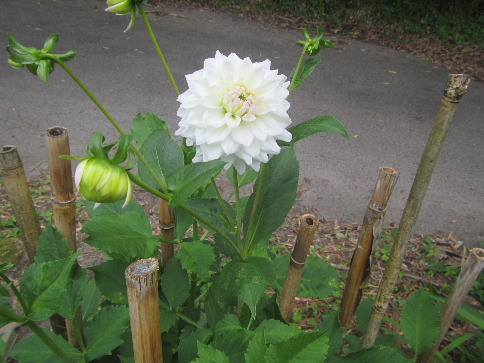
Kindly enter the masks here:
<path id="1" fill-rule="evenodd" d="M 124 272 L 135 363 L 163 363 L 157 270 L 157 260 L 146 258 Z"/>

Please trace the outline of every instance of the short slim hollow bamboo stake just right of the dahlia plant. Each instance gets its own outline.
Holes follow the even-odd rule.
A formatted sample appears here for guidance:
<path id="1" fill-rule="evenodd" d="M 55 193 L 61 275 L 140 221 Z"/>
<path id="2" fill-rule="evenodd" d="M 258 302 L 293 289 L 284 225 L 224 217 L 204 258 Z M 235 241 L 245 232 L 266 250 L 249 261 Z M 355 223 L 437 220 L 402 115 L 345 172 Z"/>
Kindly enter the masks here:
<path id="1" fill-rule="evenodd" d="M 298 238 L 291 253 L 291 260 L 287 268 L 286 279 L 284 280 L 284 287 L 282 288 L 279 301 L 279 310 L 286 322 L 289 322 L 292 318 L 292 309 L 299 281 L 301 280 L 302 268 L 306 263 L 307 253 L 313 242 L 316 228 L 318 228 L 318 218 L 309 213 L 302 215 Z"/>

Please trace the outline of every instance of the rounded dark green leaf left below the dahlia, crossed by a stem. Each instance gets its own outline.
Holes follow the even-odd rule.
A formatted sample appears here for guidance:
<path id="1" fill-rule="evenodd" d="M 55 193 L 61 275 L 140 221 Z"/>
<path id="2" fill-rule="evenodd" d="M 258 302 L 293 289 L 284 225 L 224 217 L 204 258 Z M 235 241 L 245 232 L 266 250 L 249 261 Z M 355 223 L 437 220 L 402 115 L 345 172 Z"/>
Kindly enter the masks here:
<path id="1" fill-rule="evenodd" d="M 162 130 L 155 130 L 146 138 L 139 150 L 158 178 L 168 184 L 168 177 L 184 165 L 180 146 L 166 136 Z M 142 181 L 160 190 L 148 169 L 138 160 L 138 174 Z"/>

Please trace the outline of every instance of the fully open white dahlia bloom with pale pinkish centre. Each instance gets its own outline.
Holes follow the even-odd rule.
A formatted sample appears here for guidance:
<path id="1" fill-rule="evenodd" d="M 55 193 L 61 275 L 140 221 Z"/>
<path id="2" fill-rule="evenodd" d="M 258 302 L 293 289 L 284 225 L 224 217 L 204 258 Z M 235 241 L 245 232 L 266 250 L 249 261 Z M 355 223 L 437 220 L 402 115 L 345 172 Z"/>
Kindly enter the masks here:
<path id="1" fill-rule="evenodd" d="M 281 148 L 276 140 L 291 141 L 285 128 L 289 82 L 271 71 L 271 61 L 252 63 L 217 50 L 203 69 L 186 76 L 188 90 L 178 97 L 180 128 L 175 135 L 196 146 L 193 162 L 221 159 L 239 174 L 259 170 Z"/>

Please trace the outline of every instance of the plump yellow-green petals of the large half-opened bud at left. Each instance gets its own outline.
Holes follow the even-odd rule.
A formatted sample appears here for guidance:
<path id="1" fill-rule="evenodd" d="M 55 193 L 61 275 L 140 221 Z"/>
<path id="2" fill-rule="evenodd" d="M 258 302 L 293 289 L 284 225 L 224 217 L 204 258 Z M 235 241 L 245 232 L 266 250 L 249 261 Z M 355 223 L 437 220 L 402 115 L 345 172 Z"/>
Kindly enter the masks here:
<path id="1" fill-rule="evenodd" d="M 114 203 L 124 199 L 123 207 L 131 200 L 131 181 L 121 166 L 106 158 L 85 158 L 76 168 L 74 176 L 80 196 L 85 200 Z"/>

